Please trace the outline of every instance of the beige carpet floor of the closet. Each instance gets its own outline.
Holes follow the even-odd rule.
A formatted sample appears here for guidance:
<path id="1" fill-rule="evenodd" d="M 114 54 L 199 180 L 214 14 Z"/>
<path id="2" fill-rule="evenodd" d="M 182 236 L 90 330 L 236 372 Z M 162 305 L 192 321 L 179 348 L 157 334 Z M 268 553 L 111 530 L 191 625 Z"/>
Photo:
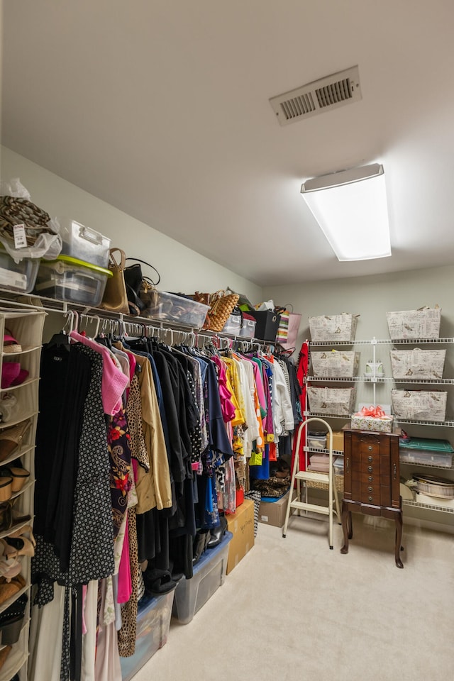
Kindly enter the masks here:
<path id="1" fill-rule="evenodd" d="M 320 516 L 319 516 L 320 517 Z M 255 546 L 134 681 L 450 681 L 454 537 L 353 515 L 328 548 L 326 519 L 293 516 L 287 538 L 259 524 Z"/>

